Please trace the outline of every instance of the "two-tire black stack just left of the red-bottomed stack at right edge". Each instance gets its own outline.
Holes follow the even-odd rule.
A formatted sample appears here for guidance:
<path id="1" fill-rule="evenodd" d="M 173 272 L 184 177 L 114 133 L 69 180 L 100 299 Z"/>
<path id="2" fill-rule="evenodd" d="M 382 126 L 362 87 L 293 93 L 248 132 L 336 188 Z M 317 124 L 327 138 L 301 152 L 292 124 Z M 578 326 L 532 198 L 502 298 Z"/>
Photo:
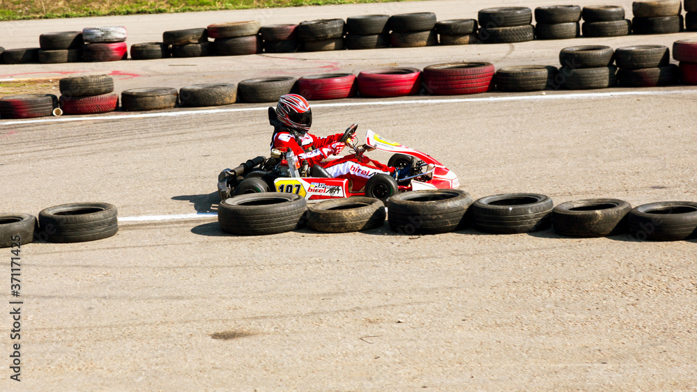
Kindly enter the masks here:
<path id="1" fill-rule="evenodd" d="M 671 56 L 663 45 L 638 45 L 615 50 L 620 70 L 617 79 L 622 87 L 670 86 L 680 80 L 680 70 L 669 64 Z"/>

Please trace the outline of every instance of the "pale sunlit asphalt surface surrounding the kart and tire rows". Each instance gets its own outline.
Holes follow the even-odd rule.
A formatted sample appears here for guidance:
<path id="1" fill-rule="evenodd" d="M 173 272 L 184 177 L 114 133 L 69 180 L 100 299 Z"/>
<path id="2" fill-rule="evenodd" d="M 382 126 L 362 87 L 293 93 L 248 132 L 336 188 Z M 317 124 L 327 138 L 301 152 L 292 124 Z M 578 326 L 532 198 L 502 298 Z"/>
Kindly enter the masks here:
<path id="1" fill-rule="evenodd" d="M 602 2 L 582 5 L 593 3 Z M 629 1 L 616 3 L 631 10 Z M 42 20 L 5 22 L 0 30 L 10 32 L 2 45 L 11 48 L 35 46 L 43 32 L 118 24 L 127 26 L 130 45 L 158 40 L 167 29 L 261 16 L 272 24 L 430 10 L 452 19 L 491 5 L 432 1 Z M 0 72 L 21 78 L 116 71 L 122 91 L 462 60 L 497 68 L 556 65 L 562 47 L 671 46 L 692 36 L 3 65 Z M 313 102 L 313 128 L 324 135 L 355 122 L 428 152 L 475 198 L 525 191 L 556 204 L 592 197 L 632 205 L 697 201 L 696 97 L 694 88 L 675 86 L 355 98 Z M 119 233 L 106 240 L 22 248 L 22 382 L 9 379 L 6 305 L 0 388 L 694 389 L 696 240 L 472 229 L 410 237 L 387 224 L 342 235 L 309 229 L 224 235 L 210 214 L 217 173 L 268 154 L 266 107 L 0 120 L 0 210 L 38 214 L 61 203 L 105 201 L 122 218 Z M 8 266 L 9 249 L 0 255 Z M 10 301 L 9 267 L 2 273 L 8 274 L 2 299 Z"/>

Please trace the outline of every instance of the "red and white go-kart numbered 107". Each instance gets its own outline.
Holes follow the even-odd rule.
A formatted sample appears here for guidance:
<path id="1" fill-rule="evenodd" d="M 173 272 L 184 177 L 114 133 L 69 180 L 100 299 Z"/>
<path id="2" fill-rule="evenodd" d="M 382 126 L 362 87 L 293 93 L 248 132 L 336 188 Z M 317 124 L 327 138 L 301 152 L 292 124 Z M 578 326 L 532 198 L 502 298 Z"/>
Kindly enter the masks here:
<path id="1" fill-rule="evenodd" d="M 386 201 L 399 191 L 454 189 L 460 186 L 457 175 L 441 162 L 423 152 L 383 139 L 371 130 L 366 132 L 365 144 L 355 146 L 352 139 L 357 127 L 356 124 L 351 125 L 339 139 L 346 143 L 351 152 L 342 159 L 372 166 L 378 162 L 366 157 L 365 152 L 376 149 L 394 152 L 387 166 L 408 166 L 409 175 L 397 181 L 391 175 L 378 173 L 372 175 L 361 189 L 353 189 L 351 180 L 332 178 L 322 166 L 325 162 L 308 167 L 307 164 L 300 164 L 292 151 L 274 149 L 268 159 L 256 157 L 236 168 L 222 171 L 217 184 L 220 200 L 231 195 L 279 191 L 299 194 L 307 201 L 351 196 L 369 196 Z"/>

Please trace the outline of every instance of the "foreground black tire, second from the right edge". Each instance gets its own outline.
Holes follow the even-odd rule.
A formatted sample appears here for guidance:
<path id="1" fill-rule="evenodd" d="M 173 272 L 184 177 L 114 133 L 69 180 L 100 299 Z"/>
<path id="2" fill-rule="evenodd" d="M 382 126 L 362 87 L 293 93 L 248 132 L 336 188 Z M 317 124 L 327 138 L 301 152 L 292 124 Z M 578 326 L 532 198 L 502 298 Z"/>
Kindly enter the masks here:
<path id="1" fill-rule="evenodd" d="M 625 234 L 631 205 L 616 198 L 569 201 L 552 210 L 554 231 L 567 237 L 607 237 Z"/>

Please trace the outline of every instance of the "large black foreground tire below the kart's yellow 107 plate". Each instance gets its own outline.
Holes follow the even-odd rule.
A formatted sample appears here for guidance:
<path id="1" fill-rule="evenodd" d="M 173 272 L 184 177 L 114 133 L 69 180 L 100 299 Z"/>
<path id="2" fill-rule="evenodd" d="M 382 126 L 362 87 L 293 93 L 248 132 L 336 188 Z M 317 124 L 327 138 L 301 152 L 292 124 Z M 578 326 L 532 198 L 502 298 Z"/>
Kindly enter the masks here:
<path id="1" fill-rule="evenodd" d="M 276 203 L 269 203 L 273 201 Z M 300 195 L 245 194 L 220 202 L 218 224 L 225 233 L 237 235 L 285 233 L 300 225 L 306 210 L 307 202 Z"/>

